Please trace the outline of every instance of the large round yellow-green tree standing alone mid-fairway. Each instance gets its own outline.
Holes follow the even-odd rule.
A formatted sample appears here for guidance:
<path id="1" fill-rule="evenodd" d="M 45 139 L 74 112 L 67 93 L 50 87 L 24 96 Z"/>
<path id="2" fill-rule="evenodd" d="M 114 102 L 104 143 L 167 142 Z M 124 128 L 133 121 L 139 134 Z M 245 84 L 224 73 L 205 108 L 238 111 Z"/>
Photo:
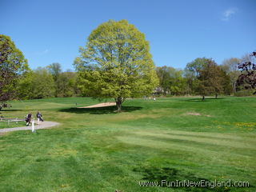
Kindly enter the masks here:
<path id="1" fill-rule="evenodd" d="M 118 112 L 126 98 L 150 94 L 158 84 L 149 42 L 126 20 L 102 23 L 79 51 L 74 65 L 82 94 L 114 98 Z"/>

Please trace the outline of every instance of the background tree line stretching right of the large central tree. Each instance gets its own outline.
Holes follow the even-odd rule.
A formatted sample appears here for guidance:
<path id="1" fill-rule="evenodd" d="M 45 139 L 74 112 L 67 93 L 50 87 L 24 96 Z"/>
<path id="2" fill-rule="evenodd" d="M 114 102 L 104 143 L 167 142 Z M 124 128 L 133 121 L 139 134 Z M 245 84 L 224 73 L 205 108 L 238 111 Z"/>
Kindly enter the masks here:
<path id="1" fill-rule="evenodd" d="M 254 52 L 255 53 L 255 52 Z M 196 58 L 186 64 L 184 70 L 171 66 L 156 68 L 159 85 L 155 90 L 158 95 L 240 95 L 254 94 L 254 88 L 241 81 L 243 63 L 254 62 L 254 54 L 245 54 L 242 58 L 225 59 L 218 65 L 212 58 Z M 239 68 L 240 67 L 240 68 Z M 253 66 L 250 73 L 254 74 Z M 253 75 L 251 75 L 253 76 Z M 255 79 L 251 79 L 251 81 Z M 247 85 L 252 83 L 247 83 Z"/>

